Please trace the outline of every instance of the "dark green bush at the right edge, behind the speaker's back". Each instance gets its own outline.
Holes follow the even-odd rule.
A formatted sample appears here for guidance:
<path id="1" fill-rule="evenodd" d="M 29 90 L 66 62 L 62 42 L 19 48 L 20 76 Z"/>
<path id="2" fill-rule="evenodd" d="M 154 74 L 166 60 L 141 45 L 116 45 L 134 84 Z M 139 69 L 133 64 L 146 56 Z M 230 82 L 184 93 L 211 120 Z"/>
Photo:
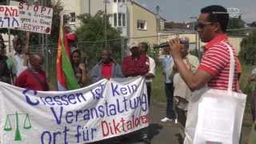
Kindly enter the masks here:
<path id="1" fill-rule="evenodd" d="M 256 30 L 242 39 L 239 57 L 246 64 L 256 64 Z"/>

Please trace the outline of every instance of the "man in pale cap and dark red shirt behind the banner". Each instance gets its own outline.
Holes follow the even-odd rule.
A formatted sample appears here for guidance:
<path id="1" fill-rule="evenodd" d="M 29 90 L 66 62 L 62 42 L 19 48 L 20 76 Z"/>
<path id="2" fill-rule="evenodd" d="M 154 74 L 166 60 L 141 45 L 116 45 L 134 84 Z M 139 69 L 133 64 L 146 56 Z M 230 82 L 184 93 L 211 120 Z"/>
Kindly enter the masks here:
<path id="1" fill-rule="evenodd" d="M 138 42 L 130 42 L 128 45 L 131 55 L 122 61 L 122 73 L 125 77 L 136 77 L 145 75 L 150 68 L 149 58 L 145 54 L 140 54 Z"/>

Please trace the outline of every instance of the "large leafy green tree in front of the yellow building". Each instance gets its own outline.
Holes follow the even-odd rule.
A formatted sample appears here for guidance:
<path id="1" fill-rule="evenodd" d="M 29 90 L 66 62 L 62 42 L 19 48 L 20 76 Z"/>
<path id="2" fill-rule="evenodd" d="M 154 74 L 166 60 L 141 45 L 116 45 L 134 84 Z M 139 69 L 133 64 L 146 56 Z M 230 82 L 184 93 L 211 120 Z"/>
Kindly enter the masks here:
<path id="1" fill-rule="evenodd" d="M 110 15 L 106 15 L 106 38 L 111 40 L 107 41 L 107 48 L 112 50 L 114 58 L 121 60 L 121 31 L 110 25 L 109 17 Z M 102 48 L 105 47 L 104 13 L 99 10 L 94 16 L 81 14 L 78 16 L 78 19 L 81 21 L 81 26 L 77 29 L 79 48 L 82 48 L 82 50 L 86 52 L 90 64 L 94 64 L 98 62 Z"/>

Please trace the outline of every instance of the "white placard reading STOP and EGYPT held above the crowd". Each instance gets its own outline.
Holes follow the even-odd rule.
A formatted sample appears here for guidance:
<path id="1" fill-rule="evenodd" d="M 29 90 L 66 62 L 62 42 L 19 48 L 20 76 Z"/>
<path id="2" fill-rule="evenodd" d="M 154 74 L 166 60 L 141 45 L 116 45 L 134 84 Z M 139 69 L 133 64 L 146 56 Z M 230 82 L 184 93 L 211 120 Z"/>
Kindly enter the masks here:
<path id="1" fill-rule="evenodd" d="M 19 9 L 21 26 L 18 30 L 50 34 L 53 18 L 52 8 L 16 1 L 10 1 L 10 5 L 18 6 Z"/>

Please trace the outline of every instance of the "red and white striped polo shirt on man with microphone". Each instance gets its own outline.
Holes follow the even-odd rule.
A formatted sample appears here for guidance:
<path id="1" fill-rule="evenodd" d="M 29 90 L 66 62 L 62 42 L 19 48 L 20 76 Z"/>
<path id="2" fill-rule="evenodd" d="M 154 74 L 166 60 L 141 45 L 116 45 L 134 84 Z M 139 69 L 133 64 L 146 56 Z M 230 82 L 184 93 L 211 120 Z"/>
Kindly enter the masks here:
<path id="1" fill-rule="evenodd" d="M 208 82 L 208 86 L 213 89 L 218 90 L 227 90 L 229 75 L 230 75 L 230 50 L 228 46 L 230 43 L 227 40 L 226 34 L 218 35 L 218 37 L 212 39 L 207 43 L 205 52 L 202 55 L 202 62 L 198 67 L 199 70 L 204 70 L 207 73 L 214 76 Z M 236 52 L 234 51 L 233 46 L 231 46 L 234 58 L 236 57 Z M 236 62 L 235 62 L 236 65 Z M 237 82 L 238 82 L 238 70 L 235 66 L 235 74 L 233 81 L 233 90 L 237 91 Z"/>

